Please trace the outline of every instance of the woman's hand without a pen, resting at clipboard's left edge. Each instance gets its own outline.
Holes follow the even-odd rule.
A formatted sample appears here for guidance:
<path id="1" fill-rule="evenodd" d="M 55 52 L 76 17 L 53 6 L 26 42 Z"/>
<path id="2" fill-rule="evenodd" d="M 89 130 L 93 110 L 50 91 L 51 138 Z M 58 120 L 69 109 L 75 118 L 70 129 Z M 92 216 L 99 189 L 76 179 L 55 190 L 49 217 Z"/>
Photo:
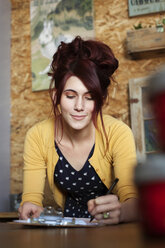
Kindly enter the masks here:
<path id="1" fill-rule="evenodd" d="M 25 202 L 18 209 L 19 219 L 21 220 L 27 220 L 30 217 L 37 218 L 41 212 L 43 212 L 43 208 L 31 202 Z"/>

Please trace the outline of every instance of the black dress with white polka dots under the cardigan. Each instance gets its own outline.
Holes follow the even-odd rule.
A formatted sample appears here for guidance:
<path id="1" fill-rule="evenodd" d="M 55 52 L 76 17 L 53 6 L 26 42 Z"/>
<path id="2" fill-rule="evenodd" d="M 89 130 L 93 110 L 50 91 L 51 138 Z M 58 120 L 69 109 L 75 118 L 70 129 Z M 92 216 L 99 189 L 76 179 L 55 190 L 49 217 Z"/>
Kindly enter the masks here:
<path id="1" fill-rule="evenodd" d="M 68 163 L 56 143 L 55 148 L 59 155 L 59 160 L 55 167 L 54 181 L 62 191 L 67 193 L 64 216 L 90 218 L 91 215 L 88 212 L 87 202 L 107 192 L 107 187 L 102 183 L 89 163 L 94 146 L 83 168 L 79 171 L 75 170 Z"/>

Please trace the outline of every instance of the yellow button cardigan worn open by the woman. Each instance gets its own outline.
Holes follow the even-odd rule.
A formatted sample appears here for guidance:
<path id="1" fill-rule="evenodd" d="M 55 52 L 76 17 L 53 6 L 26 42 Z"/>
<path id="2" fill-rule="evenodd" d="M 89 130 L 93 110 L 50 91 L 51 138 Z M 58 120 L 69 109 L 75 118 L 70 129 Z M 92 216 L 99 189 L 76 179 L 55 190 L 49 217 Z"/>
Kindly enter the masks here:
<path id="1" fill-rule="evenodd" d="M 131 129 L 111 116 L 103 116 L 108 135 L 109 148 L 105 154 L 106 140 L 103 135 L 100 117 L 96 130 L 95 149 L 90 164 L 107 188 L 114 177 L 119 178 L 116 194 L 121 202 L 135 198 L 136 188 L 133 183 L 133 169 L 136 165 L 136 152 Z M 54 146 L 54 118 L 37 123 L 29 129 L 24 145 L 24 202 L 42 206 L 45 178 L 48 177 L 50 188 L 56 203 L 64 208 L 65 195 L 54 183 L 54 170 L 59 157 Z"/>

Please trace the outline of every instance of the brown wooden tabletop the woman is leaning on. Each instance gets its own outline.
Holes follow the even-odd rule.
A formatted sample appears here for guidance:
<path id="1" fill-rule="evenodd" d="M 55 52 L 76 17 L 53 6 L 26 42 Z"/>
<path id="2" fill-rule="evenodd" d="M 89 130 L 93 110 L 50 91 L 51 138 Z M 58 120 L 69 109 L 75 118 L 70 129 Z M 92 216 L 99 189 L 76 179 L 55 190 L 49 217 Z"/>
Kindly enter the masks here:
<path id="1" fill-rule="evenodd" d="M 0 222 L 1 248 L 165 248 L 146 238 L 138 223 L 90 228 L 30 227 Z"/>

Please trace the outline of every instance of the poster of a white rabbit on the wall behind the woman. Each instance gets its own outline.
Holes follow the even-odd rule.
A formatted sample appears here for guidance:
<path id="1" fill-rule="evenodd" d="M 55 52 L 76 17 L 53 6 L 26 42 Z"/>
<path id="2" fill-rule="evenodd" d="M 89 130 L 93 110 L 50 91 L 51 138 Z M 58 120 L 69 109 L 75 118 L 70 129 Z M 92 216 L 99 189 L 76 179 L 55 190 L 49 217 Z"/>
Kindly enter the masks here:
<path id="1" fill-rule="evenodd" d="M 61 41 L 94 37 L 92 0 L 31 0 L 32 91 L 49 88 L 50 64 Z"/>

